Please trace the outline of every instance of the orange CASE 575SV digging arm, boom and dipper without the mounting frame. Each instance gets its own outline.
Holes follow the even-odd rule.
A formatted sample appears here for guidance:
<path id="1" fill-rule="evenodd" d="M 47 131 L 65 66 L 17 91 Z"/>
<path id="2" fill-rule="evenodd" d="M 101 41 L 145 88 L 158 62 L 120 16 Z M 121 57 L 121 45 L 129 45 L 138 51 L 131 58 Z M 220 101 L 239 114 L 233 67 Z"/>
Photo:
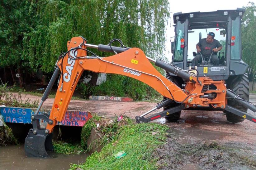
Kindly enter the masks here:
<path id="1" fill-rule="evenodd" d="M 68 50 L 78 47 L 83 43 L 83 38 L 75 37 L 68 41 Z M 175 96 L 176 101 L 183 101 L 188 95 L 182 91 L 173 82 L 161 75 L 146 58 L 144 52 L 139 48 L 131 48 L 122 53 L 109 57 L 87 57 L 87 51 L 82 49 L 71 50 L 69 53 L 57 62 L 57 65 L 63 73 L 60 78 L 59 87 L 55 96 L 55 101 L 50 113 L 50 118 L 54 122 L 48 124 L 46 129 L 52 132 L 57 121 L 64 118 L 74 89 L 78 83 L 83 70 L 90 70 L 97 73 L 121 74 L 140 80 L 158 91 L 162 96 L 172 99 L 170 95 Z"/>

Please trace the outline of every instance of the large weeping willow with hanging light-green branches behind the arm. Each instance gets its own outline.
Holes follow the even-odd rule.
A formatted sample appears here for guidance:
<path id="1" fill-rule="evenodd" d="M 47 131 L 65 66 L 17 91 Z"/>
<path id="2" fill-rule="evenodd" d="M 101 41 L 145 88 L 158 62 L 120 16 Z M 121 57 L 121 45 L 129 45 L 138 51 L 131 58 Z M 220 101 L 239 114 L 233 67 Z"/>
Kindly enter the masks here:
<path id="1" fill-rule="evenodd" d="M 168 0 L 39 0 L 37 14 L 41 24 L 23 41 L 23 55 L 28 56 L 31 68 L 35 70 L 40 68 L 50 73 L 59 54 L 66 51 L 66 42 L 74 36 L 83 36 L 91 44 L 108 44 L 112 38 L 119 38 L 126 46 L 139 47 L 152 58 L 164 58 Z M 110 55 L 94 52 L 100 56 Z M 123 87 L 128 96 L 138 98 L 138 94 L 131 95 L 129 91 L 132 90 L 125 85 L 133 84 L 130 88 L 143 89 L 144 95 L 149 90 L 143 83 L 119 75 L 108 75 L 108 81 L 102 86 L 108 86 L 116 76 L 121 80 L 115 82 L 121 84 L 116 87 Z M 95 80 L 93 77 L 97 74 L 92 74 L 92 80 Z M 96 82 L 90 83 L 95 85 Z M 101 92 L 101 87 L 91 89 L 94 90 L 90 93 Z M 115 95 L 110 91 L 103 93 Z"/>

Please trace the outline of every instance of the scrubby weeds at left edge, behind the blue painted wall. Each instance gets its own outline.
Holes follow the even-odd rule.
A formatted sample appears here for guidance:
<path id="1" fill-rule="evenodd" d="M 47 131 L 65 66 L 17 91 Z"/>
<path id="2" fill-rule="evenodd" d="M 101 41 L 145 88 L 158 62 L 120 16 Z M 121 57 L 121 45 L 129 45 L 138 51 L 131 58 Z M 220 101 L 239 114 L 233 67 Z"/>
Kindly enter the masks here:
<path id="1" fill-rule="evenodd" d="M 31 101 L 29 97 L 23 96 L 24 90 L 20 89 L 18 93 L 12 93 L 15 87 L 7 88 L 5 85 L 0 85 L 0 105 L 6 105 L 10 107 L 31 107 L 36 108 L 39 101 Z"/>

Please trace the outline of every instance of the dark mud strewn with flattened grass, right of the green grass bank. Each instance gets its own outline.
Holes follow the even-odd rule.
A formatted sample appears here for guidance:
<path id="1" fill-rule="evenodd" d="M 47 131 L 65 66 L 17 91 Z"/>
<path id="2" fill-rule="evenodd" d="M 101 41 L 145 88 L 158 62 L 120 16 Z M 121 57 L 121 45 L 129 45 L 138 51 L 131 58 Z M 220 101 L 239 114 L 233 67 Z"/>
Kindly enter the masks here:
<path id="1" fill-rule="evenodd" d="M 254 169 L 252 150 L 230 149 L 213 141 L 183 142 L 169 131 L 167 143 L 154 152 L 159 169 Z"/>

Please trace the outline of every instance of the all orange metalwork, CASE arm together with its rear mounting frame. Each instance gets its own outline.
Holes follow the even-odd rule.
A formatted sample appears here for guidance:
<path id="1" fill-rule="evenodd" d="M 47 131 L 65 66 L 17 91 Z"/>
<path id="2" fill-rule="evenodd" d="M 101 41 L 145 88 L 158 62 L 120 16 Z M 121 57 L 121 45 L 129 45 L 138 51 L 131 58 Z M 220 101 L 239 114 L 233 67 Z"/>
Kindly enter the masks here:
<path id="1" fill-rule="evenodd" d="M 80 45 L 83 47 L 83 38 L 74 37 L 68 41 L 68 50 L 76 48 Z M 85 48 L 85 47 L 83 47 Z M 176 86 L 173 82 L 161 75 L 154 66 L 149 62 L 144 52 L 139 48 L 131 48 L 122 53 L 109 57 L 88 57 L 87 52 L 82 49 L 71 50 L 66 56 L 57 62 L 57 66 L 61 70 L 63 76 L 60 78 L 55 101 L 50 113 L 50 119 L 53 124 L 48 124 L 46 129 L 52 132 L 57 121 L 61 121 L 67 110 L 74 89 L 78 83 L 83 70 L 90 70 L 97 73 L 121 74 L 131 78 L 140 80 L 148 84 L 150 87 L 158 91 L 162 96 L 173 99 L 175 101 L 185 103 L 186 107 L 196 107 L 197 105 L 225 108 L 226 87 L 224 81 L 213 81 L 207 77 L 201 77 L 197 82 L 197 78 L 191 76 L 191 79 L 197 83 L 187 82 L 185 91 Z M 61 90 L 61 82 L 63 79 L 63 89 Z M 215 90 L 209 90 L 209 93 L 216 93 L 213 100 L 200 98 L 202 88 L 205 85 L 214 84 Z"/>

